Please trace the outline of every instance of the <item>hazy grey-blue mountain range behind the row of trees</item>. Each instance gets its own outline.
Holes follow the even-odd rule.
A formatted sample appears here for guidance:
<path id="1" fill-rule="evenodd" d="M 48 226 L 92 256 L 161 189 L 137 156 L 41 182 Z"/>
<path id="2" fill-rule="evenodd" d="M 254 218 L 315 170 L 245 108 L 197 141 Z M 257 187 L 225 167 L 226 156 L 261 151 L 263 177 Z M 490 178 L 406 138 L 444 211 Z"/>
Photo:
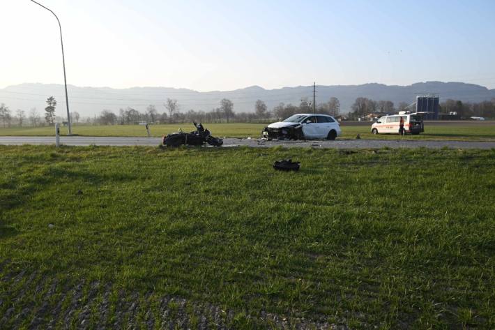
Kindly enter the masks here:
<path id="1" fill-rule="evenodd" d="M 327 102 L 330 97 L 340 100 L 341 112 L 346 113 L 358 97 L 372 100 L 391 100 L 411 104 L 416 95 L 421 93 L 438 93 L 441 101 L 448 98 L 463 102 L 481 102 L 495 98 L 495 89 L 487 89 L 477 84 L 463 82 L 418 82 L 409 86 L 388 86 L 385 84 L 360 85 L 317 85 L 317 103 Z M 45 108 L 45 100 L 54 96 L 59 103 L 56 114 L 65 113 L 65 93 L 62 84 L 18 84 L 0 89 L 0 103 L 5 103 L 11 110 L 29 111 Z M 158 112 L 165 112 L 167 98 L 176 99 L 179 111 L 210 111 L 220 106 L 222 98 L 229 98 L 234 103 L 235 112 L 254 112 L 256 100 L 264 100 L 271 110 L 280 103 L 298 105 L 302 98 L 312 100 L 312 86 L 284 87 L 281 89 L 264 89 L 258 86 L 236 89 L 234 91 L 199 92 L 191 89 L 169 87 L 132 87 L 112 89 L 109 87 L 76 87 L 68 85 L 68 97 L 71 112 L 79 112 L 82 117 L 93 117 L 102 110 L 118 112 L 119 108 L 132 107 L 143 112 L 148 105 L 155 105 Z M 63 109 L 63 110 L 62 110 Z"/>

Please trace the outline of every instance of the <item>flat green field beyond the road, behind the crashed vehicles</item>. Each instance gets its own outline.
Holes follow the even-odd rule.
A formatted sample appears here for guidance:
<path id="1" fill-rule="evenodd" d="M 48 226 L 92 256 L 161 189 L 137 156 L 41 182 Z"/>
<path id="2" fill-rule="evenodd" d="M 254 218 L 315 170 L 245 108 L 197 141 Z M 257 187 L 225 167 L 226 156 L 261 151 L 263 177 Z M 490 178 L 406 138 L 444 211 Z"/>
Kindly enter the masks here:
<path id="1" fill-rule="evenodd" d="M 261 130 L 266 124 L 258 123 L 208 123 L 206 128 L 211 130 L 213 135 L 219 137 L 259 137 Z M 151 126 L 151 133 L 155 137 L 160 137 L 168 133 L 173 133 L 178 128 L 186 132 L 194 130 L 188 123 L 154 125 Z M 390 140 L 469 140 L 469 141 L 495 141 L 495 121 L 493 123 L 450 123 L 448 125 L 425 124 L 425 133 L 421 135 L 372 135 L 370 133 L 371 124 L 368 126 L 352 126 L 344 123 L 342 126 L 342 139 L 354 139 L 360 134 L 363 139 L 390 139 Z M 61 128 L 63 135 L 67 134 L 67 128 Z M 74 126 L 73 133 L 85 136 L 147 136 L 144 126 Z M 53 127 L 41 128 L 0 128 L 0 135 L 29 135 L 43 136 L 54 135 Z"/>

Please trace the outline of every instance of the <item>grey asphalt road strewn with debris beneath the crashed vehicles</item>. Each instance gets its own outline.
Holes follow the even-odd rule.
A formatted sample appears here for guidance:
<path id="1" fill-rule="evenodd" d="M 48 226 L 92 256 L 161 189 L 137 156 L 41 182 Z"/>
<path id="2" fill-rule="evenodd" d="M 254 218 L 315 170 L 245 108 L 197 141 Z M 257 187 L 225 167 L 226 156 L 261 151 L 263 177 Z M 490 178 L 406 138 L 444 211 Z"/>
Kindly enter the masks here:
<path id="1" fill-rule="evenodd" d="M 83 137 L 62 136 L 61 144 L 68 146 L 158 146 L 160 137 Z M 2 136 L 0 144 L 55 144 L 55 137 Z M 492 149 L 495 141 L 426 141 L 426 140 L 335 140 L 335 141 L 262 141 L 258 139 L 224 139 L 224 147 L 312 147 L 337 149 L 374 149 L 374 148 L 454 148 L 454 149 Z"/>

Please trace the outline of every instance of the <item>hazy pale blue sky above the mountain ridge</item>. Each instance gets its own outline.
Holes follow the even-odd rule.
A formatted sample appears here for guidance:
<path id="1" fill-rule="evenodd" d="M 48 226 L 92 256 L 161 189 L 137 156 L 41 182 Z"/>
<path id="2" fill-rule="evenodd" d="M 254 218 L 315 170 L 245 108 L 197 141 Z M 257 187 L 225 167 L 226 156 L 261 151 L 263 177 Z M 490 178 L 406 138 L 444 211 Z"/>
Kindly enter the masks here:
<path id="1" fill-rule="evenodd" d="M 68 83 L 199 91 L 462 81 L 495 88 L 495 1 L 39 0 Z M 0 0 L 0 88 L 63 83 L 55 18 Z"/>

